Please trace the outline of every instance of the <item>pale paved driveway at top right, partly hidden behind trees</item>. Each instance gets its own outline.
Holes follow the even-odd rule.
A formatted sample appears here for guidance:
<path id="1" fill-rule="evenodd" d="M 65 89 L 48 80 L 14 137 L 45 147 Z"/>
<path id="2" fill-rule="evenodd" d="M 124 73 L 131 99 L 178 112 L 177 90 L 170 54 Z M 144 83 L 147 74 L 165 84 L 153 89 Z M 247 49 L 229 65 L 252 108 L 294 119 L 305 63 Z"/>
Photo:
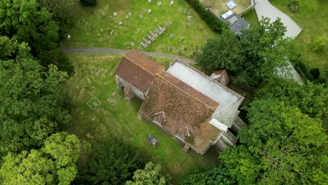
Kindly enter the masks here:
<path id="1" fill-rule="evenodd" d="M 257 18 L 259 20 L 262 19 L 262 16 L 264 18 L 270 18 L 271 22 L 275 21 L 277 18 L 280 18 L 281 22 L 285 25 L 287 32 L 285 33 L 285 37 L 291 37 L 295 38 L 298 36 L 301 32 L 302 29 L 299 25 L 297 25 L 292 18 L 290 18 L 288 15 L 280 11 L 277 7 L 273 6 L 270 4 L 268 0 L 255 0 L 255 11 L 257 12 Z M 292 73 L 292 76 L 299 85 L 303 84 L 303 79 L 297 71 L 294 69 L 293 65 L 288 62 L 289 65 L 288 67 L 290 68 L 290 72 Z M 280 74 L 281 75 L 281 74 Z M 283 75 L 282 75 L 283 76 Z"/>

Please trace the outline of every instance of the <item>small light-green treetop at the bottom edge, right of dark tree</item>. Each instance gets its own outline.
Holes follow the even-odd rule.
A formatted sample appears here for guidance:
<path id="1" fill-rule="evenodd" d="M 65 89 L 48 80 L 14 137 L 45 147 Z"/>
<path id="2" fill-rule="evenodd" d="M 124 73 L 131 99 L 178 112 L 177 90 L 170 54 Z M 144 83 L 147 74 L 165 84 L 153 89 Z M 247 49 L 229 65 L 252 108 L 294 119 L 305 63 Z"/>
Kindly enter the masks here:
<path id="1" fill-rule="evenodd" d="M 133 175 L 134 181 L 126 181 L 126 185 L 166 185 L 171 184 L 170 177 L 163 177 L 160 174 L 160 165 L 149 162 L 144 170 L 136 170 Z"/>

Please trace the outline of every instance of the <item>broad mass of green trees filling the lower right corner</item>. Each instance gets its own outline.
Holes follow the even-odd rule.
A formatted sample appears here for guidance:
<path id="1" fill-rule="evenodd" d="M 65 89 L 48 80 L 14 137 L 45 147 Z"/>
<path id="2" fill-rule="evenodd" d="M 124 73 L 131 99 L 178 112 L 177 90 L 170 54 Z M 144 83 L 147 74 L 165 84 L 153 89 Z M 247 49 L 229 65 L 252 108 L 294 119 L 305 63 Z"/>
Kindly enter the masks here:
<path id="1" fill-rule="evenodd" d="M 181 184 L 324 184 L 327 176 L 327 88 L 279 81 L 247 108 L 239 146 L 220 165 L 191 172 Z"/>

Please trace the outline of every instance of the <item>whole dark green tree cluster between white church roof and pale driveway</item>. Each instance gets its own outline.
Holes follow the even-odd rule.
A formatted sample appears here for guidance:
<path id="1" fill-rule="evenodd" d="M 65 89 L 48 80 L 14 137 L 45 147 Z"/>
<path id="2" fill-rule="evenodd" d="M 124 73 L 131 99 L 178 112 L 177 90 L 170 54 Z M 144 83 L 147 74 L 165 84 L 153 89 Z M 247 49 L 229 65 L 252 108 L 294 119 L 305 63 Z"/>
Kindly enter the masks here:
<path id="1" fill-rule="evenodd" d="M 282 38 L 285 31 L 279 19 L 270 23 L 268 18 L 243 31 L 240 39 L 226 30 L 217 39 L 207 41 L 197 62 L 205 69 L 228 69 L 233 81 L 241 85 L 256 86 L 261 81 L 275 81 L 278 67 L 282 74 L 289 75 L 286 55 L 294 54 L 289 52 L 289 40 Z"/>

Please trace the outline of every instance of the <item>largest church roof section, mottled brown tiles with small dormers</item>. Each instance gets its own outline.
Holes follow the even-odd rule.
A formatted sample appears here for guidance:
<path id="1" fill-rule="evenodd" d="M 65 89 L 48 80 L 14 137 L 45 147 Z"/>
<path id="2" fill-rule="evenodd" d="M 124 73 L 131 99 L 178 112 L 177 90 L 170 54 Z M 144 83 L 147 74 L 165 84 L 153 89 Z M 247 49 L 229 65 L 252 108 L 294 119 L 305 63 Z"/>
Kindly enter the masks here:
<path id="1" fill-rule="evenodd" d="M 160 111 L 165 113 L 161 128 L 171 135 L 182 135 L 185 128 L 190 132 L 188 143 L 198 153 L 205 153 L 221 130 L 210 125 L 218 103 L 180 81 L 168 72 L 160 72 L 153 78 L 139 115 L 153 121 Z"/>

